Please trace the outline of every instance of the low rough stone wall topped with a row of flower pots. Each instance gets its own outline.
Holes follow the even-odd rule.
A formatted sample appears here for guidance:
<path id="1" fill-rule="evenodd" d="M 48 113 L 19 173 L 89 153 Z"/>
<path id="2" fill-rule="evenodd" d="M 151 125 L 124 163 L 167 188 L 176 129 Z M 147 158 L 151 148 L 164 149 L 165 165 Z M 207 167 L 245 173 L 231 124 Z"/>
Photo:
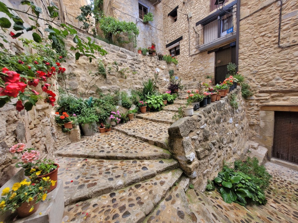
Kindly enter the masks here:
<path id="1" fill-rule="evenodd" d="M 184 117 L 168 129 L 169 148 L 181 169 L 190 177 L 196 190 L 203 191 L 207 180 L 213 180 L 224 161 L 233 162 L 248 151 L 248 122 L 240 87 L 239 108 L 230 106 L 230 97 L 211 103 Z"/>

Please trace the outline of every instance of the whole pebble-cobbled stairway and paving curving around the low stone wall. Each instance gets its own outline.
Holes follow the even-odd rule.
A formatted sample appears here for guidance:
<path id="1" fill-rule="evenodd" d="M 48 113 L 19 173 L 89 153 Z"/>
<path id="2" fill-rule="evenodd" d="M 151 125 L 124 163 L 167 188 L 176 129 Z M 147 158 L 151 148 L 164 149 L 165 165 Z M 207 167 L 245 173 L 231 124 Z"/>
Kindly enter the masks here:
<path id="1" fill-rule="evenodd" d="M 226 204 L 217 191 L 195 193 L 189 188 L 189 179 L 167 150 L 167 129 L 173 123 L 172 116 L 184 102 L 181 97 L 161 112 L 137 114 L 133 121 L 117 125 L 110 132 L 83 137 L 78 143 L 60 148 L 56 161 L 60 165 L 59 178 L 64 183 L 63 222 L 231 223 L 298 220 L 295 205 L 284 202 L 297 202 L 297 197 L 279 192 L 280 200 L 275 200 L 273 194 L 278 193 L 280 185 L 274 185 L 274 180 L 274 189 L 269 190 L 272 194 L 267 194 L 270 197 L 268 204 L 262 207 L 254 205 L 253 208 Z M 285 171 L 281 175 L 287 173 Z M 297 189 L 295 186 L 296 192 Z M 294 217 L 286 216 L 286 209 Z M 280 210 L 283 213 L 279 216 Z M 269 220 L 270 214 L 274 215 L 271 216 L 272 221 Z"/>

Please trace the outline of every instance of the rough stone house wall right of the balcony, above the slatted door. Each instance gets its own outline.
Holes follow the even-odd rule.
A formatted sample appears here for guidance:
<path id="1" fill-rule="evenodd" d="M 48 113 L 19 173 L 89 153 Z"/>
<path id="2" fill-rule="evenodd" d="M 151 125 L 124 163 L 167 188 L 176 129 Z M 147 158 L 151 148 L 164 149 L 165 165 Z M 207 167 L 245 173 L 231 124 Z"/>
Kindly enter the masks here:
<path id="1" fill-rule="evenodd" d="M 274 112 L 261 111 L 263 105 L 298 105 L 298 45 L 294 45 L 298 35 L 298 5 L 295 0 L 283 0 L 280 45 L 293 46 L 280 48 L 280 2 L 258 3 L 241 0 L 239 70 L 255 93 L 247 103 L 249 138 L 264 145 L 270 158 Z M 282 92 L 284 89 L 292 92 Z M 267 92 L 259 92 L 263 90 Z"/>

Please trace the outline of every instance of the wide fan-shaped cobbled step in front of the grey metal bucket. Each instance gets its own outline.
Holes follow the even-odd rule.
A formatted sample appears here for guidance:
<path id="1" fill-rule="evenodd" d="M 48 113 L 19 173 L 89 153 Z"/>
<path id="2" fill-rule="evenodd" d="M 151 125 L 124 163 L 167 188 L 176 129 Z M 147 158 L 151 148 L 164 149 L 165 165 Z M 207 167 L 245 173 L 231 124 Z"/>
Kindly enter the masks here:
<path id="1" fill-rule="evenodd" d="M 57 156 L 94 159 L 170 159 L 168 150 L 112 130 L 85 136 L 80 142 L 60 148 Z"/>

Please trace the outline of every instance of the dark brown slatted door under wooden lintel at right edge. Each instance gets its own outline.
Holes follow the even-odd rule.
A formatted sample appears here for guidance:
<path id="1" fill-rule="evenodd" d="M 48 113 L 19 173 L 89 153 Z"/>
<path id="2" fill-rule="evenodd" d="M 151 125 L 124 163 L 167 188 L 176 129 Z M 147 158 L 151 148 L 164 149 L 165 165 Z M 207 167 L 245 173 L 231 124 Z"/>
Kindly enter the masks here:
<path id="1" fill-rule="evenodd" d="M 272 157 L 298 164 L 298 112 L 275 112 Z"/>

